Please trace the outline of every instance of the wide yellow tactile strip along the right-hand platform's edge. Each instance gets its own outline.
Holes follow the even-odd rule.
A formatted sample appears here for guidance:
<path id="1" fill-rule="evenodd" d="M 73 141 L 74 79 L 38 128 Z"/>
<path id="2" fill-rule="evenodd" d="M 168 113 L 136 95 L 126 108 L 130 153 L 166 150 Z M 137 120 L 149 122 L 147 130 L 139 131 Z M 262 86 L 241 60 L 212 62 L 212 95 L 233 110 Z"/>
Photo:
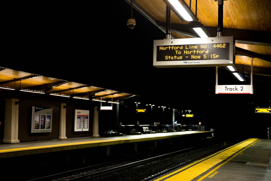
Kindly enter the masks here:
<path id="1" fill-rule="evenodd" d="M 198 181 L 203 180 L 257 141 L 259 141 L 258 138 L 250 138 L 244 142 L 238 143 L 206 158 L 193 162 L 154 181 L 189 181 L 214 167 L 211 171 L 198 179 Z"/>

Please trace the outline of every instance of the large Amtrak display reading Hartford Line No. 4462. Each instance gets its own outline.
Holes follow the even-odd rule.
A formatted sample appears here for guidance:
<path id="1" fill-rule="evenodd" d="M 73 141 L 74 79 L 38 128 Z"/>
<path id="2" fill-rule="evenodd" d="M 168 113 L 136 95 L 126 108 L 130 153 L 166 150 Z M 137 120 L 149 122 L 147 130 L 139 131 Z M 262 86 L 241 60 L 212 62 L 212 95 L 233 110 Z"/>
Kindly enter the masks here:
<path id="1" fill-rule="evenodd" d="M 155 67 L 212 67 L 235 63 L 233 36 L 154 40 Z"/>

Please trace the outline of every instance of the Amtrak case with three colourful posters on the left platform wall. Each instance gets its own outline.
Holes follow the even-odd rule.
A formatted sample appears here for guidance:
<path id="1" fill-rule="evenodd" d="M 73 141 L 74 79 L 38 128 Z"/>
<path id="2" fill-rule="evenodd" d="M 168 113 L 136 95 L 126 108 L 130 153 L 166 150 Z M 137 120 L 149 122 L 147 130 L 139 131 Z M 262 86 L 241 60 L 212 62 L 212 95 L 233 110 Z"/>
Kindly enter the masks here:
<path id="1" fill-rule="evenodd" d="M 53 108 L 32 106 L 31 133 L 52 132 Z"/>

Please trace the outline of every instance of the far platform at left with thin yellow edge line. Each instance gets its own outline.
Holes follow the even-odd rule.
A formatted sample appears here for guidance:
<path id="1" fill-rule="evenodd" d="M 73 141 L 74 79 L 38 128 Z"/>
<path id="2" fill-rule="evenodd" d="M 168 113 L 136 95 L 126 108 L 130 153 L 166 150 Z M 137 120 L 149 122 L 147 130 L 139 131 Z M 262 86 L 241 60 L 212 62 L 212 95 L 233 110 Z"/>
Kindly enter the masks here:
<path id="1" fill-rule="evenodd" d="M 112 146 L 117 144 L 155 141 L 161 139 L 178 138 L 189 135 L 211 137 L 211 131 L 181 131 L 155 134 L 134 134 L 110 137 L 68 138 L 65 140 L 41 140 L 15 144 L 0 144 L 0 158 L 10 158 L 31 154 L 51 153 L 57 151 Z"/>

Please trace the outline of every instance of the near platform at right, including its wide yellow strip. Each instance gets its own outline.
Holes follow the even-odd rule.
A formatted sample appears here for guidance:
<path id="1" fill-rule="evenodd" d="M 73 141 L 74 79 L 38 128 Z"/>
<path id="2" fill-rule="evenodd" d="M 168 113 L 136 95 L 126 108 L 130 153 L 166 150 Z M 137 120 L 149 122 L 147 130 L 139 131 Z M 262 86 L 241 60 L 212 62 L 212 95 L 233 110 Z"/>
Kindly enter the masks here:
<path id="1" fill-rule="evenodd" d="M 271 140 L 250 138 L 154 181 L 270 181 Z"/>

